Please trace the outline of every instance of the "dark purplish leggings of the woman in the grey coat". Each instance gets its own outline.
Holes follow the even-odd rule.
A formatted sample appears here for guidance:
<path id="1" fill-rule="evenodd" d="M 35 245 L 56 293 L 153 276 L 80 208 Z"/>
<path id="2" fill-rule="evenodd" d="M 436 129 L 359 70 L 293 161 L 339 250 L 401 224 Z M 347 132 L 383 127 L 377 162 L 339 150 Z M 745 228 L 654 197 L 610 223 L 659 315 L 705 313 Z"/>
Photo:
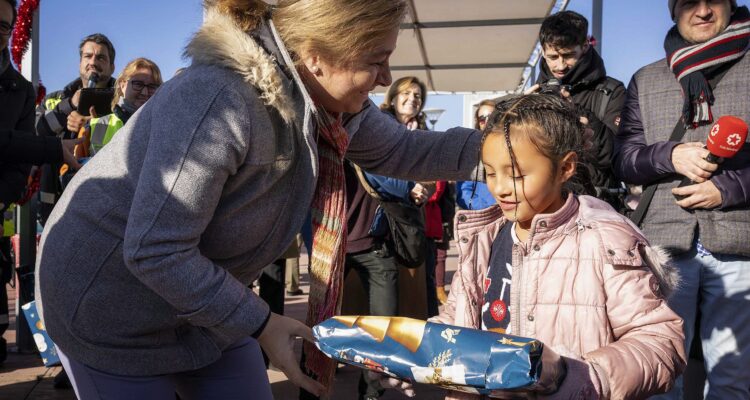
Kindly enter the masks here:
<path id="1" fill-rule="evenodd" d="M 221 358 L 203 368 L 158 376 L 120 376 L 95 370 L 67 357 L 60 360 L 80 400 L 272 400 L 271 385 L 260 346 L 242 339 L 224 350 Z"/>

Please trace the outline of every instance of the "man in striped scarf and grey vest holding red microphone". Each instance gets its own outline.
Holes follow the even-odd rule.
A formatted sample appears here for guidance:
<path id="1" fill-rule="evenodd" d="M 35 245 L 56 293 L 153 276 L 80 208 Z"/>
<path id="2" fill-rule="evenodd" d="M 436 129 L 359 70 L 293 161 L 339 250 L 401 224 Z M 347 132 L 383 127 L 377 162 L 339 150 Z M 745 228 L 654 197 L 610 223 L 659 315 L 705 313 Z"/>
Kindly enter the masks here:
<path id="1" fill-rule="evenodd" d="M 680 273 L 669 306 L 685 320 L 686 353 L 694 337 L 702 344 L 705 398 L 750 399 L 750 146 L 719 165 L 704 145 L 719 117 L 750 121 L 750 11 L 734 0 L 668 5 L 666 58 L 628 85 L 615 173 L 646 186 L 633 218 Z M 683 177 L 692 182 L 678 187 Z M 682 381 L 660 398 L 682 399 Z"/>

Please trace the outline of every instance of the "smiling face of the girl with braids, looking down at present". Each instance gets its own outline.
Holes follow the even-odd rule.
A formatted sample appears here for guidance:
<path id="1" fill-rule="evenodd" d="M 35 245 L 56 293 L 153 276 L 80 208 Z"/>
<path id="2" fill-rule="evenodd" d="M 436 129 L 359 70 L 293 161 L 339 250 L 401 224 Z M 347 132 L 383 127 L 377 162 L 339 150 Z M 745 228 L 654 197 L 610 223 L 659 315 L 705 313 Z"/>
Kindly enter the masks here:
<path id="1" fill-rule="evenodd" d="M 553 213 L 565 203 L 562 185 L 575 173 L 576 155 L 568 153 L 557 168 L 553 168 L 552 160 L 542 154 L 521 129 L 510 128 L 515 176 L 502 132 L 493 132 L 485 139 L 482 163 L 487 186 L 505 217 L 516 221 L 521 229 L 529 230 L 535 215 Z"/>

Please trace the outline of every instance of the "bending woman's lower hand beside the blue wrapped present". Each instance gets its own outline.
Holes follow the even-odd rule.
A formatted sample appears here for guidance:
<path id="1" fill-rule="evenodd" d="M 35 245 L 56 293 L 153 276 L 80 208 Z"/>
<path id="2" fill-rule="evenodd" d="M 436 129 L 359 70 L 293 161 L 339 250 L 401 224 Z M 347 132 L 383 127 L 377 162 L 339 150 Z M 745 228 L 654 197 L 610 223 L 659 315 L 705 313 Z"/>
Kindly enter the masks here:
<path id="1" fill-rule="evenodd" d="M 301 337 L 308 342 L 315 342 L 312 329 L 302 322 L 283 315 L 271 313 L 265 329 L 258 337 L 263 350 L 273 365 L 281 370 L 293 384 L 320 397 L 325 393 L 325 386 L 302 373 L 299 362 L 294 355 L 294 342 Z"/>

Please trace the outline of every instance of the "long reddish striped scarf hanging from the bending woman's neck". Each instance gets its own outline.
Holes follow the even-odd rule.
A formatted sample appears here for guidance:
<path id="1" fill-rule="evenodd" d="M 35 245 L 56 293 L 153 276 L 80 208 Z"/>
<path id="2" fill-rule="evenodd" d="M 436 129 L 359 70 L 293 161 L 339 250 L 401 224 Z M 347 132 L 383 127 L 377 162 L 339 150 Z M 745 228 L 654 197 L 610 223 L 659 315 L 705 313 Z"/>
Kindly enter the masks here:
<path id="1" fill-rule="evenodd" d="M 337 314 L 346 257 L 346 179 L 344 154 L 349 135 L 341 115 L 318 108 L 318 183 L 311 206 L 313 247 L 310 256 L 310 297 L 307 325 L 313 326 Z M 331 387 L 336 363 L 305 342 L 305 370 Z"/>

